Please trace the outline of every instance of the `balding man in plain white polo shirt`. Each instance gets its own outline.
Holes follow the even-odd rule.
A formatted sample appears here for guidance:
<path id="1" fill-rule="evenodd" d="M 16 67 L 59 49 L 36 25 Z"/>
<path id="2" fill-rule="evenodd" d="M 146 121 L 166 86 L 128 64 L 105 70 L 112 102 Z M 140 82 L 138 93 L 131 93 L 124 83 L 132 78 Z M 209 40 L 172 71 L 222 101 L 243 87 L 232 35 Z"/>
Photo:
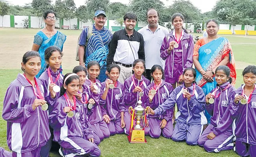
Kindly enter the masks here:
<path id="1" fill-rule="evenodd" d="M 163 38 L 169 33 L 168 29 L 158 24 L 159 13 L 154 9 L 148 9 L 148 25 L 139 29 L 144 39 L 145 63 L 147 79 L 151 80 L 151 68 L 155 64 L 164 68 L 164 60 L 160 57 L 160 48 Z"/>

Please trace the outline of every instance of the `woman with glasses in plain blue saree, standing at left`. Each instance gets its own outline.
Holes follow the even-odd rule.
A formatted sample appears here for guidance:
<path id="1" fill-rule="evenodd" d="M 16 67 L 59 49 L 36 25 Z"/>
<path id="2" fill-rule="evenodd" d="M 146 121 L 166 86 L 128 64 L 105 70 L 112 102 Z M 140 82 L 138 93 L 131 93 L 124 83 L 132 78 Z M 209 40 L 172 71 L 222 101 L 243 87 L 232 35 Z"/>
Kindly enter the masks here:
<path id="1" fill-rule="evenodd" d="M 43 14 L 43 17 L 46 26 L 37 32 L 32 46 L 32 50 L 38 51 L 41 56 L 41 70 L 37 74 L 37 78 L 39 78 L 46 69 L 45 49 L 50 46 L 57 46 L 62 51 L 63 44 L 66 40 L 66 35 L 55 29 L 56 13 L 48 10 Z"/>

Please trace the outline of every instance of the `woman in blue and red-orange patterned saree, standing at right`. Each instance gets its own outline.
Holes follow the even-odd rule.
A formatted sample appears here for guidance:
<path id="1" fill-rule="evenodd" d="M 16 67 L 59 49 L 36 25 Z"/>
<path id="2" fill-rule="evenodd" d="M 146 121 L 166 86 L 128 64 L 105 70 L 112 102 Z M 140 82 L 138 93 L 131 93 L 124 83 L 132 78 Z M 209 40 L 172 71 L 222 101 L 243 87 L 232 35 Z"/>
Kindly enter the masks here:
<path id="1" fill-rule="evenodd" d="M 208 20 L 206 22 L 207 37 L 201 38 L 195 44 L 193 52 L 193 63 L 196 68 L 197 85 L 200 86 L 204 94 L 216 88 L 214 79 L 215 70 L 225 65 L 230 68 L 230 77 L 232 77 L 232 85 L 236 84 L 236 66 L 233 51 L 227 38 L 218 37 L 219 24 L 216 20 Z M 210 115 L 205 111 L 208 123 L 210 123 Z"/>

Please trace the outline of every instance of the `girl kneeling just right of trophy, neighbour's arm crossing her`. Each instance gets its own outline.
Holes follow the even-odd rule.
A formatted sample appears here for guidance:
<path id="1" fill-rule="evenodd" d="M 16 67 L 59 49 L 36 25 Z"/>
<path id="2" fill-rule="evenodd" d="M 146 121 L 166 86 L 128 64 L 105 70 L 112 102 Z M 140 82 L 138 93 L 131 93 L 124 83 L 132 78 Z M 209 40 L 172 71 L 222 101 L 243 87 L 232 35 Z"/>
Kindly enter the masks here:
<path id="1" fill-rule="evenodd" d="M 150 106 L 152 109 L 156 109 L 160 106 L 173 91 L 173 86 L 165 82 L 163 77 L 163 68 L 159 65 L 154 65 L 151 68 L 151 75 L 154 81 L 147 86 L 145 95 L 147 99 L 145 106 Z M 153 91 L 153 93 L 152 93 Z M 173 107 L 174 108 L 174 107 Z M 160 116 L 148 115 L 148 128 L 149 135 L 153 138 L 159 138 L 161 132 L 164 137 L 170 139 L 173 135 L 173 108 L 166 110 Z"/>

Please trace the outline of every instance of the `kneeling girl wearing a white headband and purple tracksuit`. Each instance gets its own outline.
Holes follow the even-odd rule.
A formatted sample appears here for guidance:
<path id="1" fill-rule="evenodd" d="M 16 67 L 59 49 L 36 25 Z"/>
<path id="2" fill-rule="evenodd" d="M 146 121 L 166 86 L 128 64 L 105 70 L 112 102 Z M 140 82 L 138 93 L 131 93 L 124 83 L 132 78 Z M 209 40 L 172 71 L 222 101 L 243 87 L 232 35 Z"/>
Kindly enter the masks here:
<path id="1" fill-rule="evenodd" d="M 85 124 L 83 106 L 76 99 L 80 86 L 78 75 L 67 73 L 64 76 L 59 99 L 54 103 L 49 115 L 50 125 L 54 129 L 54 141 L 64 156 L 90 155 L 100 156 L 100 150 L 93 139 L 92 131 Z"/>

